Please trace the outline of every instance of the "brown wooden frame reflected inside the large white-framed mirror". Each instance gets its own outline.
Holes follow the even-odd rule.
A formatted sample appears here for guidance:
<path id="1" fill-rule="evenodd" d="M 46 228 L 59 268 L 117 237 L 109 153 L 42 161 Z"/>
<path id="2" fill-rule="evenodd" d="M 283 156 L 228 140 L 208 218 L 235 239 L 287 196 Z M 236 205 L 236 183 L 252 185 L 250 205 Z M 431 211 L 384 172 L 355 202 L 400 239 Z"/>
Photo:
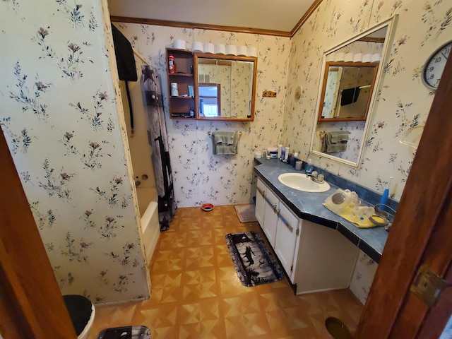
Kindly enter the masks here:
<path id="1" fill-rule="evenodd" d="M 323 102 L 325 100 L 325 92 L 326 92 L 326 85 L 328 83 L 328 69 L 329 67 L 374 67 L 374 76 L 372 76 L 372 81 L 370 84 L 370 92 L 369 92 L 369 98 L 367 99 L 367 105 L 366 105 L 366 112 L 364 112 L 364 117 L 333 117 L 333 118 L 322 118 L 322 112 L 323 112 L 323 104 L 319 105 L 319 114 L 317 117 L 317 121 L 366 121 L 367 114 L 369 113 L 370 108 L 370 102 L 371 102 L 371 93 L 374 93 L 375 88 L 375 81 L 376 81 L 376 75 L 379 70 L 379 63 L 378 62 L 344 62 L 344 61 L 326 61 L 325 66 L 325 75 L 323 76 L 323 88 L 321 92 L 321 98 L 320 102 Z"/>

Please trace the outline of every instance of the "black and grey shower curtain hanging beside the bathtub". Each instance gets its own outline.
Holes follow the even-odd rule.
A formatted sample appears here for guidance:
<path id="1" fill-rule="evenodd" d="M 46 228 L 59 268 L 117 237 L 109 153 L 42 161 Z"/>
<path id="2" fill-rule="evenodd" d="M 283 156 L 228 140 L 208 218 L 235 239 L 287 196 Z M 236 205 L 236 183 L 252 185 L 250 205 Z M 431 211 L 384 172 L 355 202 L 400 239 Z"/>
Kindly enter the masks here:
<path id="1" fill-rule="evenodd" d="M 169 163 L 169 149 L 167 140 L 167 126 L 163 112 L 163 96 L 160 77 L 155 69 L 150 66 L 141 67 L 141 91 L 143 102 L 148 114 L 148 140 L 153 149 L 153 166 L 155 184 L 158 193 L 158 215 L 160 220 L 160 231 L 169 228 L 177 205 L 174 201 L 174 189 Z"/>

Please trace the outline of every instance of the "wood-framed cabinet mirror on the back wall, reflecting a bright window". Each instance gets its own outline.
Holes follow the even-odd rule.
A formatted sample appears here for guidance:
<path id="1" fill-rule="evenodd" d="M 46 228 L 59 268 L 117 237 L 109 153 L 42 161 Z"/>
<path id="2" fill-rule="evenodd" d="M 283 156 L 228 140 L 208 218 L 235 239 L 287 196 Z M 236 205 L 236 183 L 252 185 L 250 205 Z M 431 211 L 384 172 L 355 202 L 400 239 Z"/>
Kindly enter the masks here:
<path id="1" fill-rule="evenodd" d="M 194 53 L 196 119 L 253 121 L 257 58 Z"/>

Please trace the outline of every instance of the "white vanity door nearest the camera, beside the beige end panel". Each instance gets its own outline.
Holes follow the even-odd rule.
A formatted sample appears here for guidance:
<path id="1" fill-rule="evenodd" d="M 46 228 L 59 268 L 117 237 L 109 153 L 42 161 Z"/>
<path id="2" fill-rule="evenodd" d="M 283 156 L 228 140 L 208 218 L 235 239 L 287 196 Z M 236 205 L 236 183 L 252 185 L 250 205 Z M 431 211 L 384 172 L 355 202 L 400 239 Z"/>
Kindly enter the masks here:
<path id="1" fill-rule="evenodd" d="M 298 218 L 281 202 L 279 208 L 274 248 L 287 275 L 292 277 L 295 248 L 299 237 Z"/>

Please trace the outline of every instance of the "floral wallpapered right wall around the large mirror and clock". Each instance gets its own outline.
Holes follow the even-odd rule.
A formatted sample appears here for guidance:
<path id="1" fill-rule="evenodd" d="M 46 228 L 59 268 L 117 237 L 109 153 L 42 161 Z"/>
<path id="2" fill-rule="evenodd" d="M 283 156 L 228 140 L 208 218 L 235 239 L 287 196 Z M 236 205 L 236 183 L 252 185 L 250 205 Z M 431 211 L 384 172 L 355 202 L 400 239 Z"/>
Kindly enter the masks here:
<path id="1" fill-rule="evenodd" d="M 282 141 L 309 151 L 323 52 L 395 15 L 360 168 L 312 157 L 314 165 L 379 193 L 394 177 L 391 196 L 398 201 L 413 160 L 413 149 L 399 140 L 427 119 L 434 92 L 422 84 L 421 71 L 429 55 L 451 40 L 450 0 L 323 0 L 292 38 Z M 300 100 L 294 97 L 297 85 L 303 88 Z"/>

